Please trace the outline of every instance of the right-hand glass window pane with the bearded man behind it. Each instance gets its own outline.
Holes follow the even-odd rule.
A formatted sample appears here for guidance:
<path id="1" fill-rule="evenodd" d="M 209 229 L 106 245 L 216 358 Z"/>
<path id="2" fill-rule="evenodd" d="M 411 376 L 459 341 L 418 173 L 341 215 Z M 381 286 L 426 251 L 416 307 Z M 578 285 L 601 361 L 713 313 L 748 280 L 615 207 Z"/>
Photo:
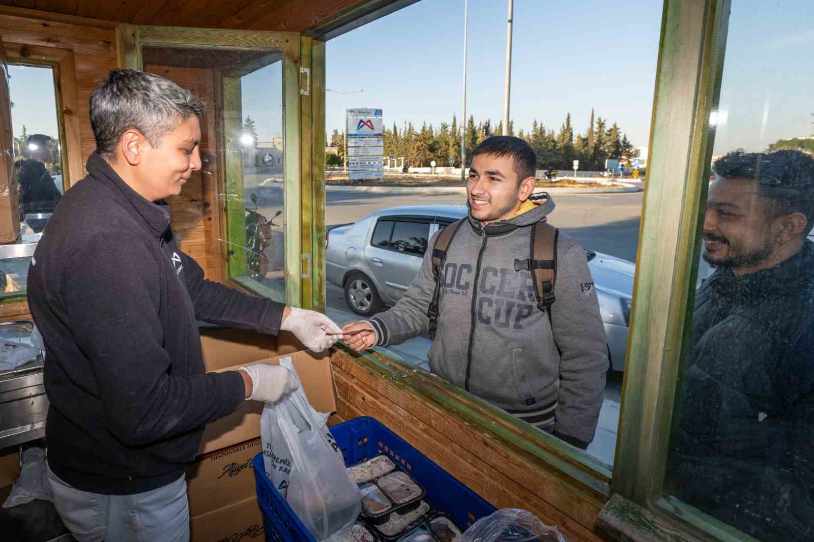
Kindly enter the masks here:
<path id="1" fill-rule="evenodd" d="M 759 540 L 814 536 L 812 13 L 732 2 L 665 487 Z"/>

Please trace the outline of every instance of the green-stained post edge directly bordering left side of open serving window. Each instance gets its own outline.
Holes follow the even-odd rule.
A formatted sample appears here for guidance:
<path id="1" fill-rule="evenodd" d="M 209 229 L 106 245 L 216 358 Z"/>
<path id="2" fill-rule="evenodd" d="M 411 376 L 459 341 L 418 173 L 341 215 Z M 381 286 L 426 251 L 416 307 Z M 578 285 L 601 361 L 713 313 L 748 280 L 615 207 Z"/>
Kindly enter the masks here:
<path id="1" fill-rule="evenodd" d="M 325 312 L 325 42 L 311 42 L 311 288 L 314 310 Z"/>

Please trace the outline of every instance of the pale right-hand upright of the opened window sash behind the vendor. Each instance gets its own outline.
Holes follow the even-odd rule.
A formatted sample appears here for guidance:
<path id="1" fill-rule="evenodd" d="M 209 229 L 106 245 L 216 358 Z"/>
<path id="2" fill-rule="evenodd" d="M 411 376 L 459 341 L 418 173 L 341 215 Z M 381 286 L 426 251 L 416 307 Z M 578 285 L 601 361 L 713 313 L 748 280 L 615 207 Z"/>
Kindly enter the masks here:
<path id="1" fill-rule="evenodd" d="M 286 303 L 302 304 L 302 209 L 300 194 L 300 35 L 293 52 L 286 50 L 282 64 L 283 211 L 285 217 Z"/>

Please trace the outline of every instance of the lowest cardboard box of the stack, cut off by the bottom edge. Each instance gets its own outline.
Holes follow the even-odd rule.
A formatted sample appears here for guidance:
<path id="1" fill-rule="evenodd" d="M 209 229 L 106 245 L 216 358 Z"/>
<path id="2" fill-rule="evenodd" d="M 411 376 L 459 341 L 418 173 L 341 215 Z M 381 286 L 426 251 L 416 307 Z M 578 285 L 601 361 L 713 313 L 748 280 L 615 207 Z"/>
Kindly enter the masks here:
<path id="1" fill-rule="evenodd" d="M 190 542 L 262 542 L 263 514 L 257 497 L 212 510 L 190 520 Z"/>

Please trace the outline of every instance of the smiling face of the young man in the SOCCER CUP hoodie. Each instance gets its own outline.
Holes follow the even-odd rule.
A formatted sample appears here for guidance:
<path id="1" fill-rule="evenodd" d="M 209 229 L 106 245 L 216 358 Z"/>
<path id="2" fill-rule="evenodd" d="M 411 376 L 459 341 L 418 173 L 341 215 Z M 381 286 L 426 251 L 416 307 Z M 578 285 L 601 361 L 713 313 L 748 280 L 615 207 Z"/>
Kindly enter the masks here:
<path id="1" fill-rule="evenodd" d="M 484 225 L 509 218 L 534 190 L 534 177 L 518 179 L 511 156 L 477 155 L 466 183 L 472 217 Z"/>

